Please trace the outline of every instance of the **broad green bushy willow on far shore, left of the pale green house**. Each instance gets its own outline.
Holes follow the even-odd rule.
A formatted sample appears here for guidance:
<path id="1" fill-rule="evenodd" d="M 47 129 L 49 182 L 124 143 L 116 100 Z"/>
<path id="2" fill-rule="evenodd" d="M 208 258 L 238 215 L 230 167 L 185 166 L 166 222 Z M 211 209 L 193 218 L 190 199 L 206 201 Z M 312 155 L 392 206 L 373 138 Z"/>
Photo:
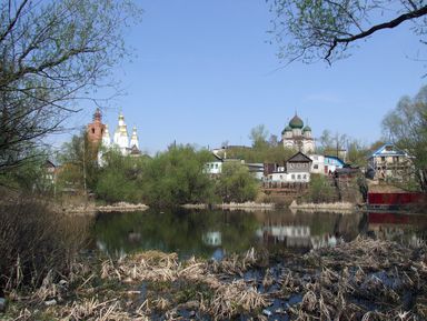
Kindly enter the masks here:
<path id="1" fill-rule="evenodd" d="M 197 151 L 190 146 L 171 146 L 158 153 L 143 172 L 147 202 L 157 207 L 209 202 L 214 185 L 203 165 L 210 159 L 209 151 Z"/>

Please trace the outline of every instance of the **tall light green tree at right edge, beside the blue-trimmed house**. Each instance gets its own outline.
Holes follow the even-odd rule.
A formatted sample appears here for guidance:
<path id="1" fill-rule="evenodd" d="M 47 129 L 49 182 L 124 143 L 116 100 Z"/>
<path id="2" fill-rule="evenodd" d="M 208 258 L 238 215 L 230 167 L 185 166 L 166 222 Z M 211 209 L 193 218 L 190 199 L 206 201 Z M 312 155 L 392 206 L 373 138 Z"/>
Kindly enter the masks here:
<path id="1" fill-rule="evenodd" d="M 414 157 L 415 175 L 427 191 L 427 87 L 414 98 L 404 97 L 383 120 L 385 134 Z"/>

